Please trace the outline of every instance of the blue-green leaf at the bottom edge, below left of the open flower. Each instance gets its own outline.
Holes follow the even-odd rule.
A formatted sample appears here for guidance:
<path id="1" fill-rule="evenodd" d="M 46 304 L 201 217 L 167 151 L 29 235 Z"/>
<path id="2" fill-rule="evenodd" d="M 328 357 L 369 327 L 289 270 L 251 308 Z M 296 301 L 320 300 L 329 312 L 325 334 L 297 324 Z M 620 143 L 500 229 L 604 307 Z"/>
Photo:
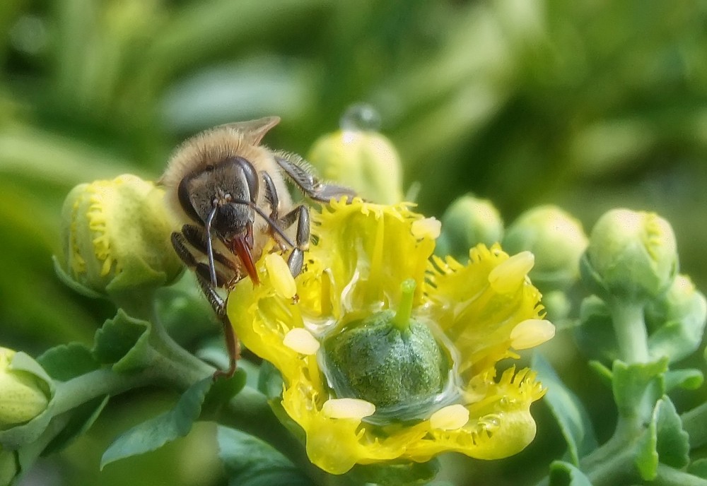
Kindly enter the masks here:
<path id="1" fill-rule="evenodd" d="M 260 439 L 218 427 L 218 456 L 229 486 L 310 486 L 312 482 L 285 456 Z"/>

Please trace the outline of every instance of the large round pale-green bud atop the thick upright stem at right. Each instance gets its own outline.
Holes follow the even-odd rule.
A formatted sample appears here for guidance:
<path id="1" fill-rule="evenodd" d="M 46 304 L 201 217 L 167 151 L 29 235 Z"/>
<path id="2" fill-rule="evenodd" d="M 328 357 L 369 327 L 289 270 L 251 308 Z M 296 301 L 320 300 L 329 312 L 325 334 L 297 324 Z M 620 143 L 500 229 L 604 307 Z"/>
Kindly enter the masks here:
<path id="1" fill-rule="evenodd" d="M 657 297 L 677 273 L 675 235 L 655 213 L 614 209 L 592 229 L 580 266 L 583 280 L 600 297 Z"/>

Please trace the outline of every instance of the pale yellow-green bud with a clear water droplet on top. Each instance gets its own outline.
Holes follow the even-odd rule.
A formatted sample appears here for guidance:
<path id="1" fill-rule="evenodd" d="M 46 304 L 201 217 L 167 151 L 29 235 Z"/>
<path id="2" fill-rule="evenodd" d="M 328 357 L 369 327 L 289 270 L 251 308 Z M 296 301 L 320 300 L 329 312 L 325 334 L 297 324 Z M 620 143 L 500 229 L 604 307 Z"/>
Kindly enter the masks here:
<path id="1" fill-rule="evenodd" d="M 378 132 L 343 129 L 320 137 L 308 160 L 324 179 L 355 189 L 368 201 L 402 201 L 402 166 L 392 143 Z"/>

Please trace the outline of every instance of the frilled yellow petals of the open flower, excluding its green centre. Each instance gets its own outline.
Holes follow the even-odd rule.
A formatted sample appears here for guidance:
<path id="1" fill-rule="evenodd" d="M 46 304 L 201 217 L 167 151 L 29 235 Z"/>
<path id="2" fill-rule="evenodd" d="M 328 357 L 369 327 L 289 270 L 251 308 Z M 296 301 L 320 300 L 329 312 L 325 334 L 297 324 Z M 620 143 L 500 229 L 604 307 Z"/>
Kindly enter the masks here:
<path id="1" fill-rule="evenodd" d="M 261 285 L 244 279 L 228 297 L 228 316 L 240 339 L 279 369 L 282 409 L 305 432 L 310 460 L 332 474 L 356 464 L 428 461 L 444 451 L 501 458 L 523 449 L 535 434 L 530 404 L 544 390 L 534 373 L 509 369 L 494 379 L 496 362 L 514 356 L 513 328 L 541 318 L 539 292 L 525 275 L 531 260 L 510 260 L 500 247 L 479 246 L 466 266 L 452 259 L 430 263 L 435 233 L 419 231 L 423 216 L 409 208 L 334 201 L 312 214 L 315 239 L 295 279 L 295 296 L 277 290 L 286 266 L 267 265 L 263 256 L 256 264 Z M 452 379 L 453 400 L 423 409 L 423 415 L 370 420 L 378 410 L 374 404 L 329 388 L 320 369 L 326 346 L 315 354 L 301 352 L 292 336 L 323 343 L 356 321 L 395 310 L 407 279 L 416 283 L 413 318 L 436 323 L 435 332 L 445 333 L 440 341 L 453 347 L 450 369 L 460 376 Z M 332 414 L 332 403 L 361 405 L 363 412 Z"/>

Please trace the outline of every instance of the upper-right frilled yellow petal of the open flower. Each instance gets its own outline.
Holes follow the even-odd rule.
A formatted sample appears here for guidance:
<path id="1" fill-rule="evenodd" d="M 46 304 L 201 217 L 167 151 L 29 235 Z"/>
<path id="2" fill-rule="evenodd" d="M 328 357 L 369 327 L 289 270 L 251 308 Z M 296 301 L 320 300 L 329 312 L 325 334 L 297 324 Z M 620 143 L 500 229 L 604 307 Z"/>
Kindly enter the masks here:
<path id="1" fill-rule="evenodd" d="M 431 263 L 427 296 L 435 304 L 433 319 L 460 352 L 464 376 L 514 357 L 513 328 L 542 318 L 540 292 L 527 279 L 532 265 L 523 263 L 524 254 L 509 257 L 498 244 L 490 249 L 480 244 L 469 251 L 467 265 L 450 257 Z"/>

